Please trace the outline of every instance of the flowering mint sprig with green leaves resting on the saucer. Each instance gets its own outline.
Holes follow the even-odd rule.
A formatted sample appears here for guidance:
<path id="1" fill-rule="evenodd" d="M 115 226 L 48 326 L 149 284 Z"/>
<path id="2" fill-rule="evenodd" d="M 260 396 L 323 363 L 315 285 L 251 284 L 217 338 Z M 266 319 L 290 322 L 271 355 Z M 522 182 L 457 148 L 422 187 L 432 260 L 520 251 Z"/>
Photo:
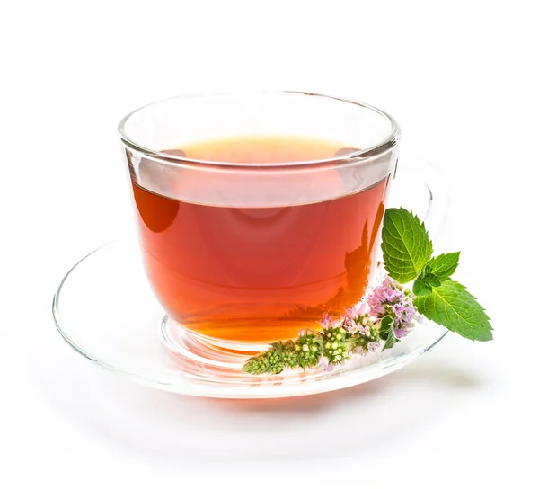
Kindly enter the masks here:
<path id="1" fill-rule="evenodd" d="M 492 339 L 490 318 L 463 285 L 450 280 L 460 252 L 433 256 L 424 223 L 406 209 L 387 209 L 382 228 L 384 282 L 338 318 L 324 316 L 322 330 L 302 330 L 295 340 L 275 342 L 247 360 L 254 375 L 284 369 L 331 370 L 352 354 L 393 348 L 411 332 L 420 314 L 474 341 Z M 412 283 L 411 290 L 402 284 Z"/>

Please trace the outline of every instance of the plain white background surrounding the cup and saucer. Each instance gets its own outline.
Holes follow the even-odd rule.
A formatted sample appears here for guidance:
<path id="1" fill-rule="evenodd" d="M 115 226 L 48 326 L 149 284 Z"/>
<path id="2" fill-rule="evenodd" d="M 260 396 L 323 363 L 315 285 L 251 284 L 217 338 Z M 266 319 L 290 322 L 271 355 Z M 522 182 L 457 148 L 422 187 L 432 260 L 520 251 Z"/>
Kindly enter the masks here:
<path id="1" fill-rule="evenodd" d="M 5 2 L 0 14 L 0 487 L 535 483 L 537 16 L 511 2 Z M 120 117 L 174 94 L 330 93 L 389 111 L 446 172 L 445 248 L 490 343 L 273 402 L 173 396 L 60 339 L 64 272 L 128 227 Z M 526 482 L 527 481 L 527 482 Z M 188 482 L 190 485 L 188 485 Z"/>

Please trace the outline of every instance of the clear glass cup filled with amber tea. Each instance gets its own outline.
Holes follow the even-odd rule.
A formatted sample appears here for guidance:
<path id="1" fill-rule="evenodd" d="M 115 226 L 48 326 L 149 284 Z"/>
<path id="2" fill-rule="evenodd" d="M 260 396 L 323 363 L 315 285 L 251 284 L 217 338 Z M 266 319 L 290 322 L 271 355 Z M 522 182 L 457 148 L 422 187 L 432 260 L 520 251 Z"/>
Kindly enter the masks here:
<path id="1" fill-rule="evenodd" d="M 366 292 L 398 161 L 400 129 L 384 111 L 314 93 L 204 94 L 133 111 L 119 135 L 166 342 L 181 337 L 205 357 L 260 351 Z M 216 138 L 333 150 L 290 161 L 190 156 Z"/>

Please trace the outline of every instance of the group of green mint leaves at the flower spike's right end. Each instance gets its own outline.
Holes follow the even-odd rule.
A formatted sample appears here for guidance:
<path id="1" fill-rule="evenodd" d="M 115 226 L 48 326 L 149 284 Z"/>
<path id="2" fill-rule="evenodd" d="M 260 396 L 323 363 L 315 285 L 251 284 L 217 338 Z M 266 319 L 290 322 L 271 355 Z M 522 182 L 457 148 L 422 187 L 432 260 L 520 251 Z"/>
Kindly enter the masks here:
<path id="1" fill-rule="evenodd" d="M 420 314 L 464 338 L 479 342 L 492 339 L 492 327 L 484 309 L 463 285 L 449 280 L 460 253 L 432 257 L 429 233 L 417 216 L 402 208 L 387 209 L 382 251 L 385 270 L 392 279 L 401 283 L 414 280 L 413 303 Z"/>

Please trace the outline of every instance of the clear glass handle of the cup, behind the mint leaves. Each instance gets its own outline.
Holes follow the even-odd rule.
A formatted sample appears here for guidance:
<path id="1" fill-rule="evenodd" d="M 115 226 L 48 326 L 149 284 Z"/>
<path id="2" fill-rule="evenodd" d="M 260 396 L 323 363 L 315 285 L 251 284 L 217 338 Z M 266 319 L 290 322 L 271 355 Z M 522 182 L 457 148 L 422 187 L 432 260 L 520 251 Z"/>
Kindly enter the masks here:
<path id="1" fill-rule="evenodd" d="M 413 191 L 418 185 L 427 189 L 427 209 L 419 213 L 419 217 L 425 222 L 431 239 L 441 236 L 450 202 L 444 173 L 435 164 L 424 160 L 399 157 L 394 178 L 396 182 L 406 182 L 407 192 Z"/>

